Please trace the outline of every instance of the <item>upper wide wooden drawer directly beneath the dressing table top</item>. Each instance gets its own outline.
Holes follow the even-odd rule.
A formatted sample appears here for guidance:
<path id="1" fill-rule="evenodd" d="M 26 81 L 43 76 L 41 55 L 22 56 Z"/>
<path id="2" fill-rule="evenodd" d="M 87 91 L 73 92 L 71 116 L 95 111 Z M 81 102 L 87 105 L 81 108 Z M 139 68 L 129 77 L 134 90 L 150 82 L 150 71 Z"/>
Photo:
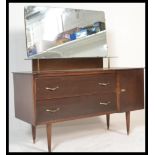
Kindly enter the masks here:
<path id="1" fill-rule="evenodd" d="M 36 79 L 37 100 L 115 91 L 114 74 Z"/>

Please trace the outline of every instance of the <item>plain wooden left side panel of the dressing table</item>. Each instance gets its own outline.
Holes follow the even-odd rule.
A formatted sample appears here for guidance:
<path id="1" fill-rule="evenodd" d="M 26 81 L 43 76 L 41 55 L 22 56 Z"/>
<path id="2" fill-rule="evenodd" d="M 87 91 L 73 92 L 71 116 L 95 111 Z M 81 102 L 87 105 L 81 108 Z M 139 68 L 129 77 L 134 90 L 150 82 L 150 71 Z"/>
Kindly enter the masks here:
<path id="1" fill-rule="evenodd" d="M 13 74 L 15 116 L 35 125 L 35 106 L 33 76 L 31 74 Z"/>

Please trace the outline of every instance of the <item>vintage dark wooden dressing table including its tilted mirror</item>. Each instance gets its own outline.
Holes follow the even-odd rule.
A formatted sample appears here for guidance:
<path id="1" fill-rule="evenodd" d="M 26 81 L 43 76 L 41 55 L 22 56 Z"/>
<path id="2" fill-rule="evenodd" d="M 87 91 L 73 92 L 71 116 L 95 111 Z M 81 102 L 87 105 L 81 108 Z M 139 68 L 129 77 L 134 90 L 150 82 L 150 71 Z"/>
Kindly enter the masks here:
<path id="1" fill-rule="evenodd" d="M 28 34 L 27 46 L 31 45 L 28 47 L 30 58 L 31 54 L 36 52 L 36 47 L 40 45 L 33 45 L 35 37 L 38 39 L 40 33 L 40 29 L 37 27 L 38 23 L 45 16 L 45 12 L 49 10 L 49 8 L 46 11 L 45 8 L 41 9 L 39 12 L 41 15 L 36 17 L 38 12 L 35 12 L 35 8 L 37 7 L 25 9 L 27 11 L 25 16 L 26 31 L 28 31 L 26 32 Z M 70 19 L 77 17 L 78 21 L 89 15 L 90 21 L 93 22 L 96 18 L 100 21 L 102 18 L 104 19 L 102 12 L 94 11 L 94 13 L 92 11 L 92 13 L 77 9 L 67 9 L 66 12 L 71 12 Z M 97 16 L 93 16 L 94 14 Z M 33 30 L 35 29 L 34 21 L 36 22 L 36 19 L 32 20 L 33 16 L 37 20 L 39 18 L 39 22 L 35 25 L 37 27 L 34 31 L 36 35 L 33 33 L 35 37 L 30 33 L 32 23 Z M 89 34 L 77 38 L 77 40 L 67 40 L 68 42 L 66 42 L 68 38 L 65 38 L 65 42 L 60 44 L 64 41 L 64 38 L 62 39 L 60 36 L 68 37 L 70 35 L 71 39 L 75 37 L 75 28 L 71 29 L 74 23 L 70 23 L 70 25 L 64 23 L 61 35 L 58 35 L 59 37 L 55 42 L 50 42 L 53 45 L 56 43 L 56 46 L 48 49 L 50 52 L 47 50 L 47 52 L 32 56 L 32 71 L 13 73 L 15 116 L 31 124 L 34 143 L 36 127 L 41 124 L 46 125 L 49 152 L 51 152 L 53 123 L 106 115 L 107 129 L 109 129 L 110 114 L 124 112 L 127 134 L 129 134 L 130 112 L 144 108 L 144 69 L 111 68 L 110 61 L 108 61 L 107 68 L 103 66 L 103 58 L 110 60 L 110 57 L 107 57 L 104 20 L 103 22 L 95 22 L 94 27 L 89 24 L 82 29 L 76 28 L 78 31 L 76 35 L 79 33 L 85 35 L 88 30 L 89 33 L 94 33 L 96 28 L 95 34 Z M 67 29 L 68 26 L 70 28 Z M 98 30 L 99 28 L 102 28 L 101 31 Z M 45 36 L 47 37 L 47 34 Z M 45 40 L 41 42 L 42 44 L 45 44 Z M 40 46 L 37 50 L 40 50 Z M 77 55 L 78 52 L 80 52 L 80 57 Z M 58 57 L 54 57 L 53 54 Z M 89 57 L 89 54 L 93 56 Z"/>

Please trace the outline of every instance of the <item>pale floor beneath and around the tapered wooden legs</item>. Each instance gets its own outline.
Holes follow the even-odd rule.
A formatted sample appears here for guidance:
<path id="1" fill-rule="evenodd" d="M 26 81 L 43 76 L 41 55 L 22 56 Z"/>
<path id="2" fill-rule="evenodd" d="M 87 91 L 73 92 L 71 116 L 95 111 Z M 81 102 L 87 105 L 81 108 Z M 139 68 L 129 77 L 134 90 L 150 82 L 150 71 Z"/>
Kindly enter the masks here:
<path id="1" fill-rule="evenodd" d="M 45 126 L 37 127 L 36 144 L 30 125 L 10 117 L 10 152 L 47 152 Z M 106 117 L 91 117 L 56 123 L 52 128 L 53 152 L 144 152 L 145 111 L 131 112 L 130 135 L 126 134 L 125 114 L 112 114 L 110 130 Z"/>

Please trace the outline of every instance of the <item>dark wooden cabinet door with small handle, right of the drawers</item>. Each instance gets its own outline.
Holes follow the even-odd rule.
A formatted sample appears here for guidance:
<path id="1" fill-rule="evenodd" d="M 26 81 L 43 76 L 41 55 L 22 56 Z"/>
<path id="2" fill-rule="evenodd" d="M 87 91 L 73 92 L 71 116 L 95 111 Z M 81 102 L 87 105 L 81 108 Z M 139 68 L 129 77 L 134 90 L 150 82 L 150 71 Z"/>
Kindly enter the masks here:
<path id="1" fill-rule="evenodd" d="M 143 69 L 119 71 L 120 111 L 131 111 L 144 108 L 143 77 Z"/>

